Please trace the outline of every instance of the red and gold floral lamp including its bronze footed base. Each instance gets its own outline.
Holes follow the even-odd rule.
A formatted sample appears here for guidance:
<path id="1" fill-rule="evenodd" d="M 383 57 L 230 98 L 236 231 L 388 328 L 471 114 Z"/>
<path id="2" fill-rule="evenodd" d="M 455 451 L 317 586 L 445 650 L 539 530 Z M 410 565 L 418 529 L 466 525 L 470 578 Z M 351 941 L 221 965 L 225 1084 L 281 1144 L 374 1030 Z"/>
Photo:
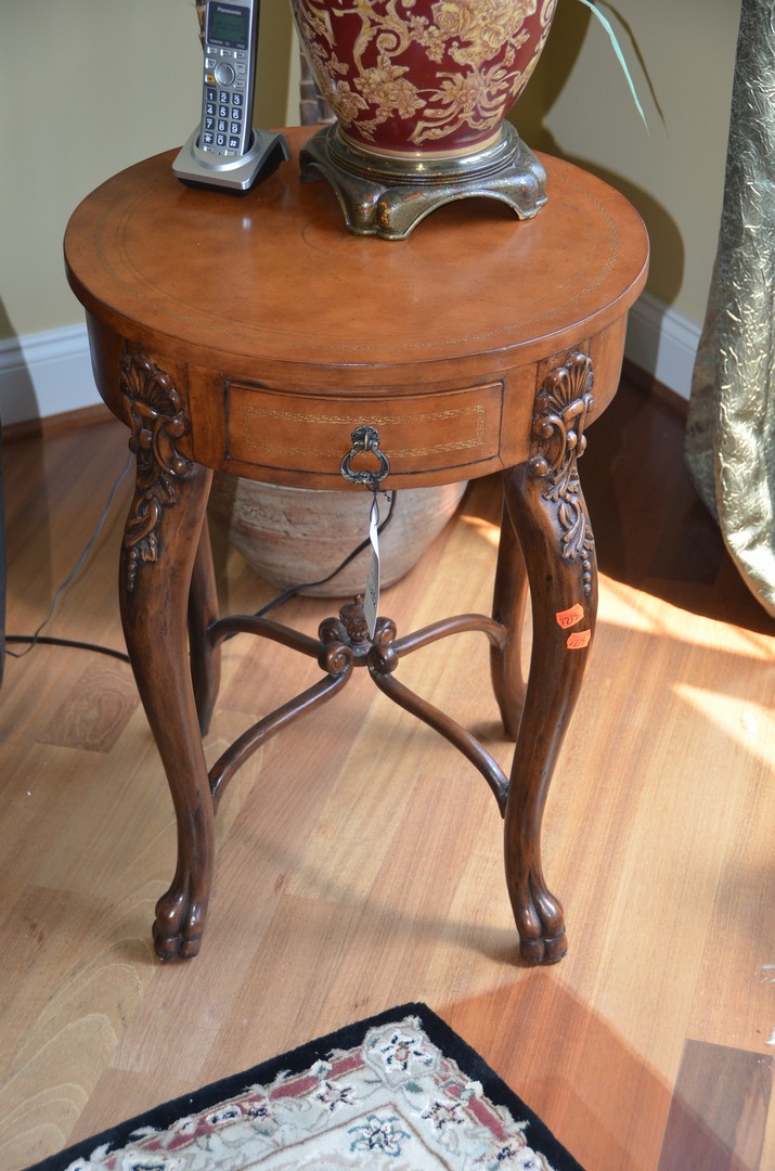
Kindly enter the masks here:
<path id="1" fill-rule="evenodd" d="M 304 150 L 306 177 L 332 185 L 348 226 L 403 239 L 469 196 L 520 218 L 546 174 L 505 121 L 546 43 L 556 0 L 292 0 L 300 39 L 336 123 Z"/>

